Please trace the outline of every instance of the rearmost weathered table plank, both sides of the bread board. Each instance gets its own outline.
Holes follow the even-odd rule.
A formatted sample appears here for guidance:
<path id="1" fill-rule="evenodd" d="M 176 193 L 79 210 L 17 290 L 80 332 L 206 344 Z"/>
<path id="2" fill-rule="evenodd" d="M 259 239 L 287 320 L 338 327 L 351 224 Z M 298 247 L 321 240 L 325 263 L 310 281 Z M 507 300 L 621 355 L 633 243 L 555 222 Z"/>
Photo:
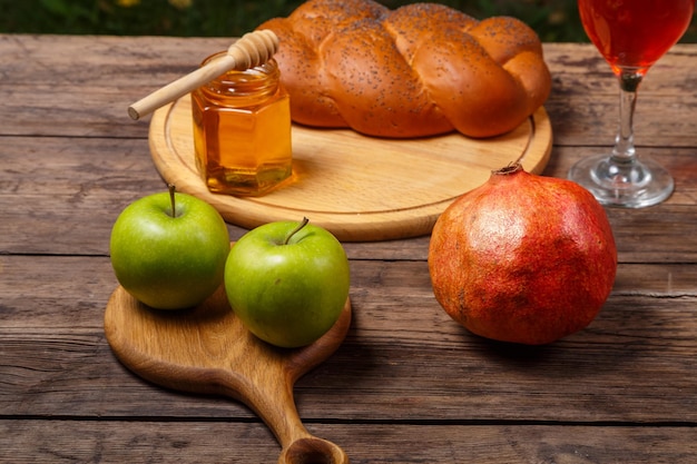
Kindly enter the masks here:
<path id="1" fill-rule="evenodd" d="M 147 121 L 134 122 L 128 105 L 193 70 L 229 39 L 3 36 L 0 56 L 6 90 L 0 134 L 147 138 Z M 65 60 L 70 56 L 69 62 Z M 696 147 L 697 46 L 680 45 L 649 72 L 637 107 L 637 144 Z M 553 75 L 546 105 L 561 145 L 608 145 L 617 127 L 617 83 L 595 49 L 546 45 Z M 27 62 L 33 66 L 28 67 Z M 675 72 L 676 67 L 680 72 Z M 80 72 L 75 69 L 89 69 Z M 50 72 L 50 73 L 48 73 Z M 37 76 L 48 73 L 45 82 Z M 50 98 L 47 98 L 50 96 Z M 82 107 L 76 108 L 76 101 Z M 46 120 L 56 124 L 47 125 Z M 651 137 L 642 138 L 642 134 Z"/>

